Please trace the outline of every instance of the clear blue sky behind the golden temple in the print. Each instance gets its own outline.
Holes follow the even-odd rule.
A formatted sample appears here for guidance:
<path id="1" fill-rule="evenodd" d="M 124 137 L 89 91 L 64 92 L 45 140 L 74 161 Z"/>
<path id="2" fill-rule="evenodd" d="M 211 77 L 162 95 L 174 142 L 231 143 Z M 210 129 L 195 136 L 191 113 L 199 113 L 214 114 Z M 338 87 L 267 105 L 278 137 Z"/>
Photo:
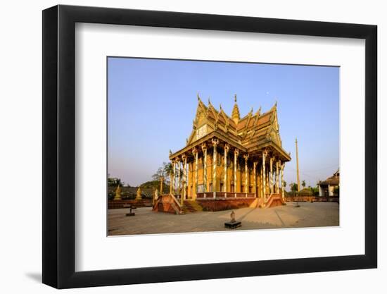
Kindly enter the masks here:
<path id="1" fill-rule="evenodd" d="M 203 102 L 241 117 L 277 100 L 282 147 L 291 152 L 284 179 L 314 186 L 338 169 L 339 68 L 260 63 L 108 58 L 108 173 L 139 185 L 186 145 Z"/>

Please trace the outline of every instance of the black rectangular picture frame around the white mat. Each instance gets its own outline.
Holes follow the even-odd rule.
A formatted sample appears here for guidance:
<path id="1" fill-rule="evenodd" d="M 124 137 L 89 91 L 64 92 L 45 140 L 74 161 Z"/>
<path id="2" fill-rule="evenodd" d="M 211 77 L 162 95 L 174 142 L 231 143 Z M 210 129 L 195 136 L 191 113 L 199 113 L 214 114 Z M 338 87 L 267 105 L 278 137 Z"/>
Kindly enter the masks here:
<path id="1" fill-rule="evenodd" d="M 75 23 L 365 39 L 365 254 L 75 271 Z M 55 288 L 377 267 L 377 27 L 348 23 L 54 6 L 43 11 L 43 283 Z"/>

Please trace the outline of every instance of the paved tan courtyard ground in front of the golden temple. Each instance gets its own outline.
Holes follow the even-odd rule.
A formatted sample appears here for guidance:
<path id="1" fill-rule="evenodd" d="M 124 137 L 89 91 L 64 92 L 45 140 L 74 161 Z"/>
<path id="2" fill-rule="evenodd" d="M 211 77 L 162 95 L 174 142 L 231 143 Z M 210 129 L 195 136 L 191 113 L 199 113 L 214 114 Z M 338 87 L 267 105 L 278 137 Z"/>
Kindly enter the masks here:
<path id="1" fill-rule="evenodd" d="M 236 220 L 242 222 L 236 230 L 338 226 L 338 209 L 336 202 L 300 202 L 300 207 L 296 207 L 296 203 L 287 203 L 269 209 L 235 209 Z M 108 210 L 108 235 L 228 231 L 224 222 L 230 220 L 231 214 L 231 210 L 224 210 L 175 215 L 152 212 L 151 207 L 135 209 L 135 216 L 125 216 L 127 212 L 129 209 Z"/>

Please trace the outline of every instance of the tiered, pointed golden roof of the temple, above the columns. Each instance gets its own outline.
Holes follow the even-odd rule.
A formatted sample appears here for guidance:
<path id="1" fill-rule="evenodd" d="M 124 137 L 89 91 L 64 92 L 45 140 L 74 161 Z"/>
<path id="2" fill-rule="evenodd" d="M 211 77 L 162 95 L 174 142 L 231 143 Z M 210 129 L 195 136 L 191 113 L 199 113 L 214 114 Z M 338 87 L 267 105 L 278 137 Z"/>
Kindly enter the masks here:
<path id="1" fill-rule="evenodd" d="M 206 106 L 198 96 L 193 129 L 187 139 L 186 147 L 173 154 L 171 152 L 170 159 L 210 140 L 211 137 L 220 138 L 231 147 L 236 147 L 246 153 L 258 152 L 259 149 L 270 146 L 284 161 L 291 160 L 290 154 L 282 149 L 277 119 L 277 102 L 265 113 L 261 113 L 261 109 L 253 113 L 251 109 L 246 116 L 240 118 L 236 96 L 231 117 L 224 112 L 222 106 L 215 109 L 210 100 Z"/>

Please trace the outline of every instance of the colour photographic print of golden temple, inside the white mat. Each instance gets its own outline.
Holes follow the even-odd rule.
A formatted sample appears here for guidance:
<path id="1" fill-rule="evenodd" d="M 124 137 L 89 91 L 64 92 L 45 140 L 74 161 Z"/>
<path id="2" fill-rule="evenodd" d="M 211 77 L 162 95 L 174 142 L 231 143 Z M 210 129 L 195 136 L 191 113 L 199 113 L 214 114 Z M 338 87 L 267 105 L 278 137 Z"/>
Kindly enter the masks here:
<path id="1" fill-rule="evenodd" d="M 338 66 L 107 64 L 108 235 L 339 226 Z"/>

